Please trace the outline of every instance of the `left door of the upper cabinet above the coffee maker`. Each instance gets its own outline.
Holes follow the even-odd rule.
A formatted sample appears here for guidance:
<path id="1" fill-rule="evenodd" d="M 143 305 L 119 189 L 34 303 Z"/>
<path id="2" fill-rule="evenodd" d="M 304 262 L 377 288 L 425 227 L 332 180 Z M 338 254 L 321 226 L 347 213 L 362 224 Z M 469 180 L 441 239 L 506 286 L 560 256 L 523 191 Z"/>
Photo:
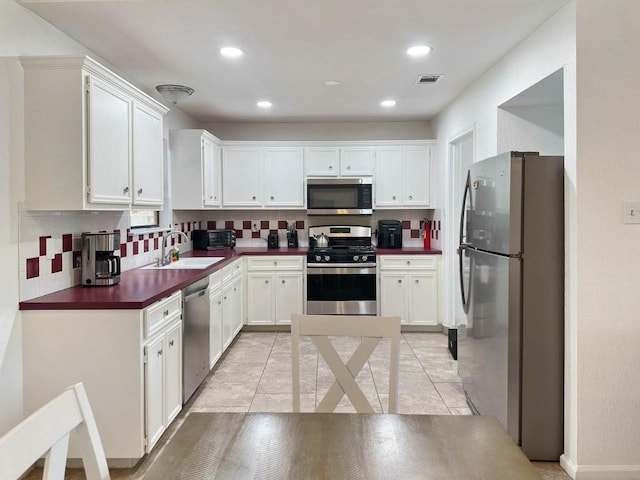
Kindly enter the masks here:
<path id="1" fill-rule="evenodd" d="M 131 99 L 90 78 L 87 98 L 88 196 L 91 203 L 131 203 Z"/>

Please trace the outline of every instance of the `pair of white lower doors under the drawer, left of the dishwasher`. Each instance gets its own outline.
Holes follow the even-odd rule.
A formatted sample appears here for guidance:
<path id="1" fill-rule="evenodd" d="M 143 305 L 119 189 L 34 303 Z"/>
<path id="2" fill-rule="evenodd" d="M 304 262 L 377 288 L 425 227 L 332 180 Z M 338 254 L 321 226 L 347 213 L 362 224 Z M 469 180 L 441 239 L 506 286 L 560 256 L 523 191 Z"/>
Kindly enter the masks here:
<path id="1" fill-rule="evenodd" d="M 182 321 L 170 321 L 145 346 L 147 453 L 182 410 Z"/>

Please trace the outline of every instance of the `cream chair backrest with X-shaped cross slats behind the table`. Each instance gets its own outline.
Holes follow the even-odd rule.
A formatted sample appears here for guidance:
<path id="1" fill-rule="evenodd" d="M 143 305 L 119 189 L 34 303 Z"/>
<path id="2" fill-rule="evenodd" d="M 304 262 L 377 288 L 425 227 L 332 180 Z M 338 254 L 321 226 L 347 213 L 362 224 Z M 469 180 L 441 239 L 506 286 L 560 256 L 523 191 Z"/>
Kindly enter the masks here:
<path id="1" fill-rule="evenodd" d="M 398 412 L 398 366 L 400 362 L 400 317 L 369 315 L 291 315 L 293 411 L 300 411 L 300 357 L 299 337 L 311 337 L 335 376 L 335 381 L 316 412 L 331 412 L 343 395 L 347 395 L 358 413 L 373 413 L 373 407 L 356 383 L 360 369 L 382 338 L 391 340 L 389 359 L 389 413 Z M 361 337 L 351 358 L 344 363 L 329 337 Z"/>

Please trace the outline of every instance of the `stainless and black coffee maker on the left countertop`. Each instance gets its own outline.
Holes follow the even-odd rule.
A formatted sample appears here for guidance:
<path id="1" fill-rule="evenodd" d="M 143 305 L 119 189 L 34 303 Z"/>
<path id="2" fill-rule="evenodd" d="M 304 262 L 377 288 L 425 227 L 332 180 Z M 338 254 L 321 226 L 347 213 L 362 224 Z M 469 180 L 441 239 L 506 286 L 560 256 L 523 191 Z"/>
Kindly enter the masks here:
<path id="1" fill-rule="evenodd" d="M 120 282 L 120 233 L 82 234 L 82 285 L 97 287 Z"/>

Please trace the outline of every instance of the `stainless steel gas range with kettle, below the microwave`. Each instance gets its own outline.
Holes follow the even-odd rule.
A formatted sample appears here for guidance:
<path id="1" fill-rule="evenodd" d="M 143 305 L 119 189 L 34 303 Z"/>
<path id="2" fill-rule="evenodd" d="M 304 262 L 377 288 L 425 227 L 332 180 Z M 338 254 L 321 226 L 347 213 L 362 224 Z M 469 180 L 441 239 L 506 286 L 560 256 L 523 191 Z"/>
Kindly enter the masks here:
<path id="1" fill-rule="evenodd" d="M 376 252 L 371 227 L 309 228 L 307 313 L 376 315 Z"/>

